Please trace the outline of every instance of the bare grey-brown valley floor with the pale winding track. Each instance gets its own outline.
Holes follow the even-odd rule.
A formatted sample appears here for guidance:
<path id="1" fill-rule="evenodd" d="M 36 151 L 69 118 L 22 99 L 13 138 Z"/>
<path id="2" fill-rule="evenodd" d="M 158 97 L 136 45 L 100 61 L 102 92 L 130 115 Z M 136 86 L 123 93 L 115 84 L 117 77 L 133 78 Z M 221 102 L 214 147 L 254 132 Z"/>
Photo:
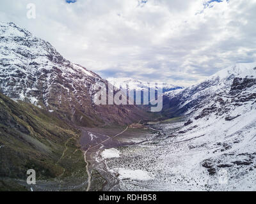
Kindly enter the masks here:
<path id="1" fill-rule="evenodd" d="M 96 170 L 105 179 L 104 185 L 98 190 L 110 191 L 119 182 L 119 179 L 108 171 L 106 161 L 100 158 L 102 152 L 107 152 L 106 157 L 109 157 L 109 153 L 115 154 L 111 151 L 113 148 L 146 142 L 155 136 L 154 132 L 156 131 L 147 128 L 138 129 L 129 126 L 82 129 L 80 143 L 85 152 L 84 160 L 88 163 L 86 170 L 89 175 L 93 170 Z M 93 179 L 93 176 L 88 179 L 89 187 L 86 189 L 87 191 L 93 191 L 90 187 L 93 185 L 91 179 Z"/>

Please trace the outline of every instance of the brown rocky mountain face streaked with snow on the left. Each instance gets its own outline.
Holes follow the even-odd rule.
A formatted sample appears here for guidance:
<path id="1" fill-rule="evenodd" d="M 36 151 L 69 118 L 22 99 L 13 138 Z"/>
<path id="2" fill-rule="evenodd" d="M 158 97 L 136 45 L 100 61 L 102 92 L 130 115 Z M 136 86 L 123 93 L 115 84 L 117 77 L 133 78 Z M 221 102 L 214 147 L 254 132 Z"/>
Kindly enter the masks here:
<path id="1" fill-rule="evenodd" d="M 95 105 L 99 75 L 63 58 L 52 45 L 13 23 L 0 24 L 0 91 L 78 125 L 127 124 L 145 116 L 137 106 Z"/>

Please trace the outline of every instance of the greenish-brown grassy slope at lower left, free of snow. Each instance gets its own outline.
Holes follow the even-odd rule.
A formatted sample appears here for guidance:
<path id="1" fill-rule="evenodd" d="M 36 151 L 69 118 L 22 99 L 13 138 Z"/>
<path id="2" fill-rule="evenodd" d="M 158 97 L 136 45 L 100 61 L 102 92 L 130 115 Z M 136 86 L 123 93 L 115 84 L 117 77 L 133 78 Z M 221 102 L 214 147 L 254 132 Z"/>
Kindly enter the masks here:
<path id="1" fill-rule="evenodd" d="M 36 171 L 37 184 L 55 182 L 42 191 L 56 189 L 63 179 L 63 190 L 87 179 L 80 132 L 53 113 L 0 93 L 0 135 L 0 191 L 30 190 L 31 186 L 26 188 L 29 169 Z M 79 187 L 85 188 L 86 183 Z"/>

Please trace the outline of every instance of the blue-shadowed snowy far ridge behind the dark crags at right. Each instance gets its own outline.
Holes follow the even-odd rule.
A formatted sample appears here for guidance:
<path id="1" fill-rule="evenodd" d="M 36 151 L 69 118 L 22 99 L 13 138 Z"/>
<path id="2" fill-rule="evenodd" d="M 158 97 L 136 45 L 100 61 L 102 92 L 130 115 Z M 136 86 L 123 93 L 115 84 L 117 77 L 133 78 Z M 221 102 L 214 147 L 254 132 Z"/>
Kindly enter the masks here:
<path id="1" fill-rule="evenodd" d="M 255 77 L 255 67 L 256 63 L 235 64 L 218 71 L 204 82 L 181 91 L 166 93 L 163 99 L 165 109 L 163 112 L 173 114 L 175 117 L 185 114 L 191 108 L 199 108 L 203 103 L 207 103 L 207 99 L 211 96 L 214 97 L 215 92 L 230 89 L 236 78 Z"/>

